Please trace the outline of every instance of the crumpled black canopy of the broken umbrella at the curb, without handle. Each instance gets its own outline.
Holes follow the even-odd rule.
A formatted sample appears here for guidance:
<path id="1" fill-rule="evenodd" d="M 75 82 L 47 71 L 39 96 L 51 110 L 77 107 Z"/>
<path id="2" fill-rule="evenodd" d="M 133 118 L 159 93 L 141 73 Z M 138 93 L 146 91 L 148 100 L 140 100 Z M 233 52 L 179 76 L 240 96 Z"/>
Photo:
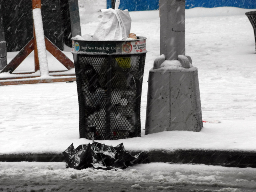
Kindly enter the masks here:
<path id="1" fill-rule="evenodd" d="M 148 155 L 141 152 L 135 156 L 125 151 L 123 143 L 113 147 L 94 142 L 92 144 L 82 144 L 76 149 L 71 144 L 63 155 L 67 168 L 74 169 L 124 169 L 138 163 L 149 163 Z"/>

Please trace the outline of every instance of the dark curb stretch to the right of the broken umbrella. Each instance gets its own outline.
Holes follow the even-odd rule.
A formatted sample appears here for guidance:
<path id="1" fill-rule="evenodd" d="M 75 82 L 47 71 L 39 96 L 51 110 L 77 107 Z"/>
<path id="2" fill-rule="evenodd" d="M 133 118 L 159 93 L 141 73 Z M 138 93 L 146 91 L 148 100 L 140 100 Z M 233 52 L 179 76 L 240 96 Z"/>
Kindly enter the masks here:
<path id="1" fill-rule="evenodd" d="M 150 151 L 150 162 L 205 164 L 228 167 L 256 167 L 256 152 L 221 150 Z"/>

